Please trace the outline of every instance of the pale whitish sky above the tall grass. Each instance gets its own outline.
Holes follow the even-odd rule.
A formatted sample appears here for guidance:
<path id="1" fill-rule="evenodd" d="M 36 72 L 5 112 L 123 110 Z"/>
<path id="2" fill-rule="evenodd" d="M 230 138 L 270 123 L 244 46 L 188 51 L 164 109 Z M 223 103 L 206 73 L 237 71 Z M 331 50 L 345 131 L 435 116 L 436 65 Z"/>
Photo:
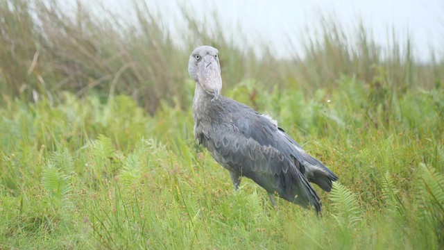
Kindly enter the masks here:
<path id="1" fill-rule="evenodd" d="M 99 1 L 123 16 L 128 16 L 131 9 L 127 1 Z M 427 60 L 431 47 L 441 56 L 444 52 L 444 42 L 441 42 L 444 40 L 443 0 L 146 0 L 146 3 L 164 17 L 167 27 L 176 35 L 176 31 L 186 28 L 180 27 L 178 6 L 185 6 L 202 20 L 211 19 L 212 10 L 216 10 L 227 27 L 224 32 L 234 42 L 244 42 L 236 41 L 239 35 L 235 32 L 239 31 L 236 28 L 239 26 L 248 44 L 266 41 L 278 56 L 287 56 L 291 46 L 298 49 L 300 40 L 307 38 L 305 33 L 314 33 L 313 27 L 319 24 L 321 15 L 339 19 L 350 33 L 361 19 L 383 47 L 393 38 L 392 28 L 398 38 L 405 38 L 409 33 L 414 53 L 420 60 Z"/>

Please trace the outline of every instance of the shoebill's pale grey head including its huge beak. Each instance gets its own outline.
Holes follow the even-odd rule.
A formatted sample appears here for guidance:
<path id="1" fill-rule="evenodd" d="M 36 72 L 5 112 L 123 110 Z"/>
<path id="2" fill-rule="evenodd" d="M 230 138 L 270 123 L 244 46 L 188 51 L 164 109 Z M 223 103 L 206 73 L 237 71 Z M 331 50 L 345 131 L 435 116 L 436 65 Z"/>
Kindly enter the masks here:
<path id="1" fill-rule="evenodd" d="M 219 98 L 222 88 L 221 66 L 219 65 L 219 51 L 210 46 L 201 46 L 194 49 L 189 56 L 189 76 L 196 81 L 213 100 Z"/>

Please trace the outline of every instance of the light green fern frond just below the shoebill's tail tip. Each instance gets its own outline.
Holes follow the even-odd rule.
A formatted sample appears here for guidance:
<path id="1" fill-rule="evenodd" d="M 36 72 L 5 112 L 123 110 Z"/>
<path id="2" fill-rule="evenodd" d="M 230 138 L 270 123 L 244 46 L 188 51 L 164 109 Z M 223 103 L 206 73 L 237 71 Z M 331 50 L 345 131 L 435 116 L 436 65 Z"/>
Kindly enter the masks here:
<path id="1" fill-rule="evenodd" d="M 345 221 L 349 226 L 355 226 L 359 222 L 361 217 L 357 198 L 344 185 L 337 182 L 333 183 L 330 200 L 333 201 L 334 217 L 339 222 Z"/>

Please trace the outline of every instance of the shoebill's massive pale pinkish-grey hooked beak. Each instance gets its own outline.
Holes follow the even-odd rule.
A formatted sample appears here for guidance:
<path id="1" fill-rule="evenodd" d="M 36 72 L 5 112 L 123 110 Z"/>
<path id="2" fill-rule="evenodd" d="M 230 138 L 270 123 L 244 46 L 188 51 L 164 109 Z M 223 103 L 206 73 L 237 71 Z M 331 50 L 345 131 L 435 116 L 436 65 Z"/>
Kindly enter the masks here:
<path id="1" fill-rule="evenodd" d="M 204 56 L 197 64 L 198 83 L 203 89 L 218 99 L 221 94 L 222 78 L 219 61 L 214 56 Z"/>

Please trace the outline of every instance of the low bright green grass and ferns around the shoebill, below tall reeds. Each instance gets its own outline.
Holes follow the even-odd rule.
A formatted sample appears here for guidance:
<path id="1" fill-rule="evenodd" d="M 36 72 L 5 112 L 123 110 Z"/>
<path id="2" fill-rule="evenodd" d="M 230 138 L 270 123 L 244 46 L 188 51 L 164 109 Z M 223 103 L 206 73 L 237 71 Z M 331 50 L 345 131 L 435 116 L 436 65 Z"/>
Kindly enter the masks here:
<path id="1" fill-rule="evenodd" d="M 373 92 L 353 78 L 339 86 L 314 99 L 256 91 L 257 108 L 340 176 L 320 192 L 322 217 L 281 199 L 274 210 L 252 181 L 234 192 L 196 147 L 190 108 L 164 105 L 150 117 L 125 96 L 9 101 L 0 109 L 0 245 L 441 248 L 443 90 L 407 90 L 384 108 L 385 98 L 369 106 Z"/>

